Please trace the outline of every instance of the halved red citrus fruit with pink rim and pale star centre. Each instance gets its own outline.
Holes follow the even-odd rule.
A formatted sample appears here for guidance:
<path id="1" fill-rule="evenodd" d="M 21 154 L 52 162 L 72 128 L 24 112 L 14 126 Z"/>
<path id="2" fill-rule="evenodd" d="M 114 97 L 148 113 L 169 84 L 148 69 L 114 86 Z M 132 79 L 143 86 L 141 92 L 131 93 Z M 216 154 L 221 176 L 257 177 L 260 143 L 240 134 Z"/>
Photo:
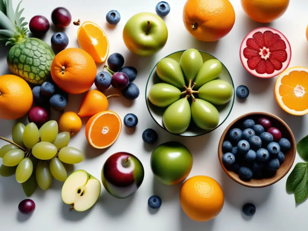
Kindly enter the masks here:
<path id="1" fill-rule="evenodd" d="M 291 46 L 280 31 L 260 27 L 246 35 L 241 44 L 240 58 L 251 75 L 272 78 L 289 66 Z"/>

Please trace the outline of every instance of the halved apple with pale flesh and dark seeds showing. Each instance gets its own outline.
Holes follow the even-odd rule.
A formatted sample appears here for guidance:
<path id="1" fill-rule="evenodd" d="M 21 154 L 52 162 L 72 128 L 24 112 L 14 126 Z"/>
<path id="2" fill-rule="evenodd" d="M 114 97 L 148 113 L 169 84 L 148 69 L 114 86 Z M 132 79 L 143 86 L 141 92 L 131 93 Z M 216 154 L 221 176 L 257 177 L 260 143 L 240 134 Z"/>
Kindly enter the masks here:
<path id="1" fill-rule="evenodd" d="M 90 209 L 99 198 L 100 181 L 84 170 L 73 172 L 62 187 L 62 200 L 71 210 L 83 212 Z"/>

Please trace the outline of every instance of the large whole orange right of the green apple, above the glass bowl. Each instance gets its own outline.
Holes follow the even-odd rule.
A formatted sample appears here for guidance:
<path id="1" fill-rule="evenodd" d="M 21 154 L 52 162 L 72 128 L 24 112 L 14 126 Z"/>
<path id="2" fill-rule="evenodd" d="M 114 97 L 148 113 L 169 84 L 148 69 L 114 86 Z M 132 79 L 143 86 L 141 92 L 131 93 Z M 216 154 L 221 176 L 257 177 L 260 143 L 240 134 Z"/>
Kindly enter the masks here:
<path id="1" fill-rule="evenodd" d="M 235 22 L 235 12 L 229 0 L 187 0 L 183 21 L 193 37 L 213 42 L 230 32 Z"/>

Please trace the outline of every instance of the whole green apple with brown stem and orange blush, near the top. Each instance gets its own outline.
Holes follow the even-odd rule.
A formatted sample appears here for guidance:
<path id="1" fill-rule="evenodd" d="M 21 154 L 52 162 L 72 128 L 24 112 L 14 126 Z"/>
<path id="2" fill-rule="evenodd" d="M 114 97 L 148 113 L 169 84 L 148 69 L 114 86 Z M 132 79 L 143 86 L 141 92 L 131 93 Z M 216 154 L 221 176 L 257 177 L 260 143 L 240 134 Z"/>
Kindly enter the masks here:
<path id="1" fill-rule="evenodd" d="M 168 29 L 163 19 L 153 13 L 138 13 L 126 22 L 123 40 L 132 53 L 140 56 L 156 54 L 168 39 Z"/>

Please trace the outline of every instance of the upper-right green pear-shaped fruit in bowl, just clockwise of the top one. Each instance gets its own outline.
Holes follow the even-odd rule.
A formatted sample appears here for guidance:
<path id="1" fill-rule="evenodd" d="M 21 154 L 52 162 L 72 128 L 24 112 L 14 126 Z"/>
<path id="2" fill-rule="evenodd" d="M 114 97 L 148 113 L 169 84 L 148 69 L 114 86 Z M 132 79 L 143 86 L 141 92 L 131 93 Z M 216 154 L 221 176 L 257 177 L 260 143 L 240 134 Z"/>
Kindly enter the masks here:
<path id="1" fill-rule="evenodd" d="M 203 84 L 216 79 L 221 71 L 222 64 L 218 59 L 209 59 L 205 61 L 196 75 L 194 81 L 196 83 L 195 87 L 199 88 Z"/>

